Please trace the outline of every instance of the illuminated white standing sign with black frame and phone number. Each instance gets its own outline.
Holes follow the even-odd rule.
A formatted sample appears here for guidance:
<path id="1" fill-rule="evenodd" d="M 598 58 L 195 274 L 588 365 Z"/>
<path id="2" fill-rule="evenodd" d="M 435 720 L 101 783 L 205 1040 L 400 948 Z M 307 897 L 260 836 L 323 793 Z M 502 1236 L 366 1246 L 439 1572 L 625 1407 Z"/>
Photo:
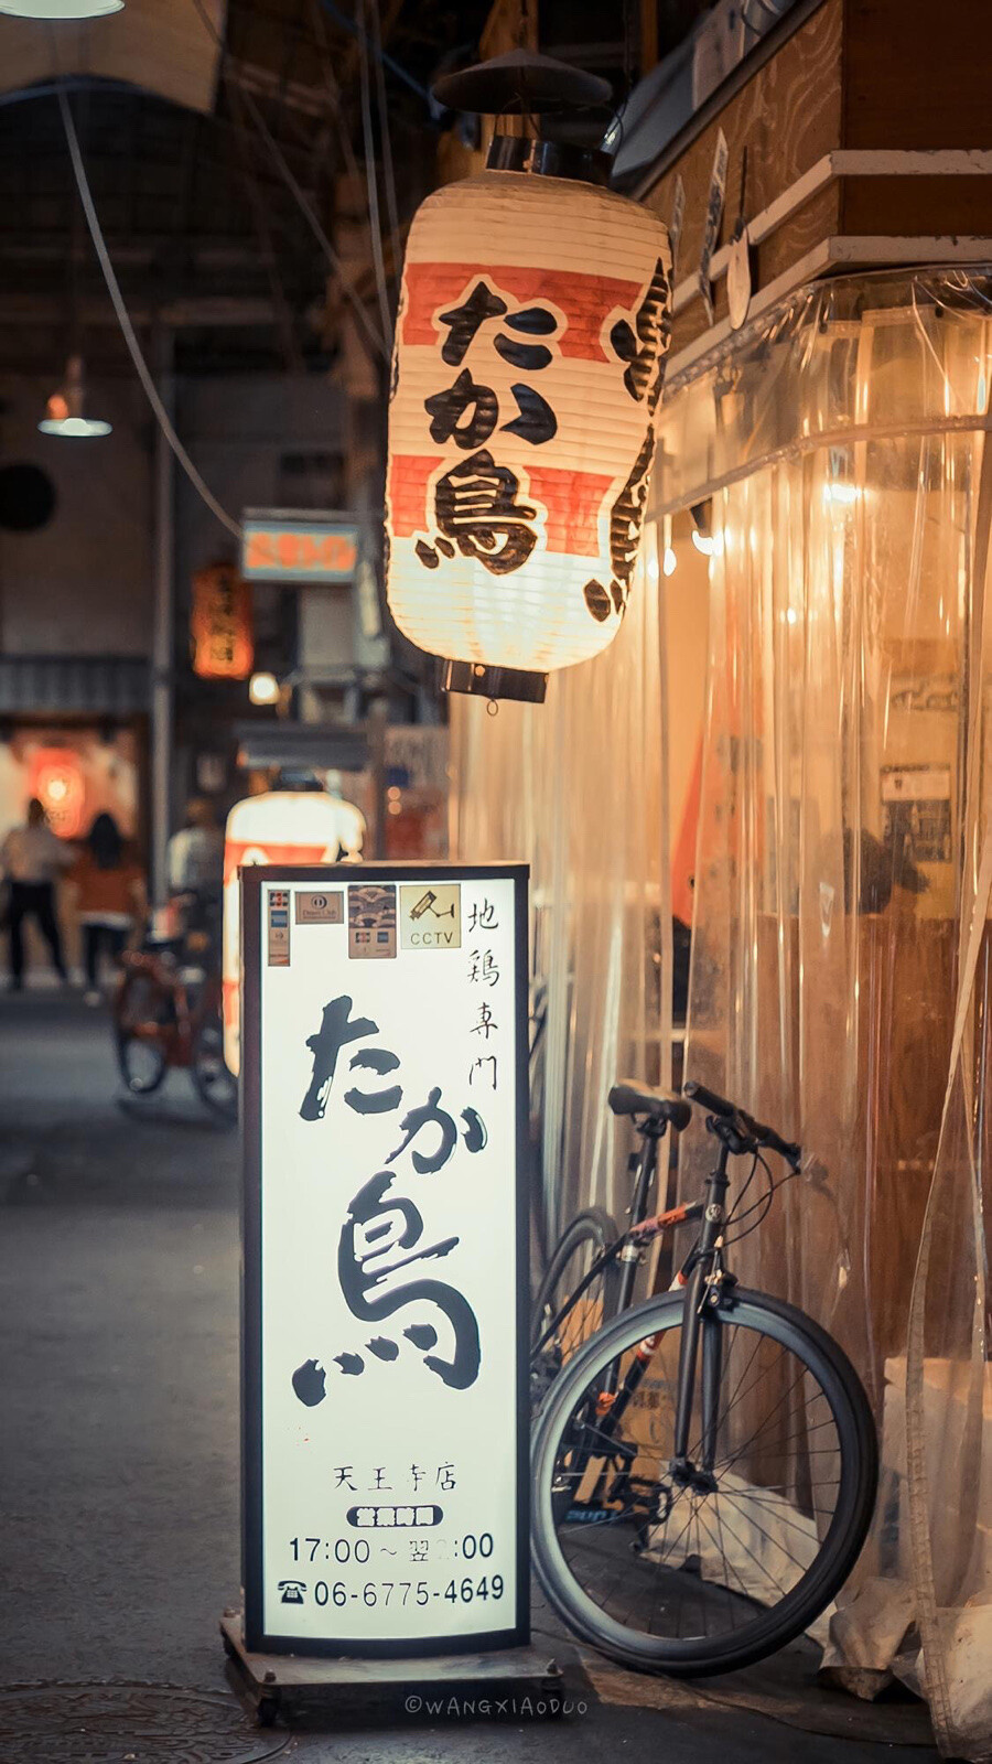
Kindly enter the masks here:
<path id="1" fill-rule="evenodd" d="M 519 1644 L 526 871 L 242 887 L 249 1646 Z"/>

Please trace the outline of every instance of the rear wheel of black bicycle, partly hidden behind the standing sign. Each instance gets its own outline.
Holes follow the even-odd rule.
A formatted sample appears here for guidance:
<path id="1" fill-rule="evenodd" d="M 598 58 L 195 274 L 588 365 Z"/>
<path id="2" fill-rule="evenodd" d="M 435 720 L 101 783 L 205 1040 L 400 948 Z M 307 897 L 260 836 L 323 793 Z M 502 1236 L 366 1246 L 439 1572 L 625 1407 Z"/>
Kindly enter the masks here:
<path id="1" fill-rule="evenodd" d="M 620 1268 L 609 1261 L 577 1291 L 597 1256 L 616 1244 L 620 1228 L 602 1207 L 577 1214 L 558 1238 L 531 1307 L 531 1411 L 537 1413 L 567 1362 L 616 1316 Z M 554 1327 L 552 1327 L 554 1325 Z M 549 1334 L 551 1330 L 551 1334 Z"/>

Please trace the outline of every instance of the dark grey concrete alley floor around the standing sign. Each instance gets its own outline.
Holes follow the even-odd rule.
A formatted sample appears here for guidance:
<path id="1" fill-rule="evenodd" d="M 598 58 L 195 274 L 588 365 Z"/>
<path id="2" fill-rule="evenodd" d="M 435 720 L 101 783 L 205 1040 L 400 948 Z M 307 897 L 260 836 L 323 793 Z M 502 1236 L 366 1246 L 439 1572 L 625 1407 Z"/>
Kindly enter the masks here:
<path id="1" fill-rule="evenodd" d="M 205 1120 L 182 1073 L 125 1111 L 104 1013 L 51 991 L 4 998 L 0 1203 L 0 1693 L 108 1678 L 224 1690 L 217 1619 L 238 1586 L 237 1136 Z M 842 1699 L 828 1732 L 807 1736 L 754 1699 L 727 1708 L 657 1679 L 590 1678 L 579 1662 L 570 1695 L 586 1713 L 560 1723 L 505 1718 L 496 1736 L 492 1722 L 395 1709 L 334 1739 L 302 1732 L 281 1755 L 936 1757 L 927 1745 L 831 1736 L 845 1730 Z M 883 1716 L 874 1734 L 884 1732 Z M 907 1732 L 893 1722 L 891 1738 Z"/>

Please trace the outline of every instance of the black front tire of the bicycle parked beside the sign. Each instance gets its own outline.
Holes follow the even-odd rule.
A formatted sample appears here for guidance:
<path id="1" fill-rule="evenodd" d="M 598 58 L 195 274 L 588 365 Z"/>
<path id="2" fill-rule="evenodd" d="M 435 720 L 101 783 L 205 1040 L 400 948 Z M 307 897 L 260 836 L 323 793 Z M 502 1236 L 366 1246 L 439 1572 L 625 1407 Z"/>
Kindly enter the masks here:
<path id="1" fill-rule="evenodd" d="M 785 1598 L 755 1618 L 747 1630 L 724 1637 L 658 1637 L 630 1630 L 607 1616 L 568 1572 L 558 1531 L 552 1489 L 565 1429 L 582 1392 L 598 1381 L 620 1353 L 681 1321 L 685 1295 L 664 1293 L 614 1318 L 595 1335 L 551 1387 L 533 1443 L 533 1561 L 551 1605 L 582 1641 L 641 1671 L 674 1678 L 729 1672 L 763 1660 L 794 1641 L 826 1609 L 851 1573 L 865 1542 L 877 1492 L 877 1436 L 868 1399 L 854 1367 L 837 1342 L 793 1305 L 736 1288 L 715 1316 L 724 1325 L 754 1328 L 778 1342 L 819 1381 L 831 1406 L 838 1448 L 838 1501 L 826 1536 Z"/>

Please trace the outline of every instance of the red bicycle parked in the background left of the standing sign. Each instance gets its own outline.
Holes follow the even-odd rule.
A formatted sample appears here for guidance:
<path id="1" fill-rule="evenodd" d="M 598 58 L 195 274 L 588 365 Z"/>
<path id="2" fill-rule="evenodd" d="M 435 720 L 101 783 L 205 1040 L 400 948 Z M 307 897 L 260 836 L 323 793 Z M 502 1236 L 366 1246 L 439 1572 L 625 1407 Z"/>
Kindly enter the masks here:
<path id="1" fill-rule="evenodd" d="M 235 1124 L 238 1083 L 224 1064 L 215 896 L 178 901 L 180 933 L 129 951 L 113 998 L 116 1064 L 131 1095 L 152 1095 L 182 1067 L 212 1115 Z"/>

